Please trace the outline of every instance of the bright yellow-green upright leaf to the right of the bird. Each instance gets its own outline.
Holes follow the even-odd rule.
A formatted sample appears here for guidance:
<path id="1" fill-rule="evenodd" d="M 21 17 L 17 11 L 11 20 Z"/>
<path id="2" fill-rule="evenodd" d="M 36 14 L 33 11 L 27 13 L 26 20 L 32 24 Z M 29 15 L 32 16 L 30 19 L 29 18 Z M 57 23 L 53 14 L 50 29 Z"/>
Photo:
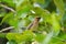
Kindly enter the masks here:
<path id="1" fill-rule="evenodd" d="M 55 13 L 52 14 L 52 22 L 51 23 L 52 23 L 52 26 L 53 26 L 55 32 L 59 31 L 61 26 L 59 26 L 59 22 L 56 19 Z"/>

